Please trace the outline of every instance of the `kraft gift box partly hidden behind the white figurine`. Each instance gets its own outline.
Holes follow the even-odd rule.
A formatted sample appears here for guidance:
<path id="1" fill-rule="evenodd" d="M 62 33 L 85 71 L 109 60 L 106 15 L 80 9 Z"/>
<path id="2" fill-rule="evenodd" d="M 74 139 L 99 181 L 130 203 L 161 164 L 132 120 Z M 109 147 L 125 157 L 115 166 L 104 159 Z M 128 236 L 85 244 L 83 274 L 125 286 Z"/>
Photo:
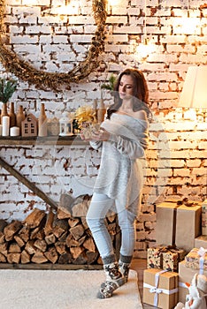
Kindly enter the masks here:
<path id="1" fill-rule="evenodd" d="M 185 304 L 186 302 L 186 296 L 188 294 L 188 287 L 186 283 L 190 284 L 194 275 L 199 273 L 199 269 L 187 268 L 185 260 L 182 260 L 179 263 L 179 301 L 181 303 Z M 203 270 L 203 275 L 207 276 L 206 270 Z"/>

